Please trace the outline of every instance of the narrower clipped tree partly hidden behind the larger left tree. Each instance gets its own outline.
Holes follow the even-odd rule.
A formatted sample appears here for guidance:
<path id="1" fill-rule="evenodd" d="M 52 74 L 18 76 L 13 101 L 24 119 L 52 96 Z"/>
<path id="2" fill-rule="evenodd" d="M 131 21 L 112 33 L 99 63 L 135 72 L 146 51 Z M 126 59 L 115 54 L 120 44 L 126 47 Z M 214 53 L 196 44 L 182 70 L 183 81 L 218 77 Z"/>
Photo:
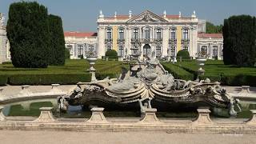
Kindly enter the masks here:
<path id="1" fill-rule="evenodd" d="M 62 18 L 50 14 L 49 15 L 50 28 L 50 65 L 64 65 L 65 64 L 65 39 L 62 27 Z"/>

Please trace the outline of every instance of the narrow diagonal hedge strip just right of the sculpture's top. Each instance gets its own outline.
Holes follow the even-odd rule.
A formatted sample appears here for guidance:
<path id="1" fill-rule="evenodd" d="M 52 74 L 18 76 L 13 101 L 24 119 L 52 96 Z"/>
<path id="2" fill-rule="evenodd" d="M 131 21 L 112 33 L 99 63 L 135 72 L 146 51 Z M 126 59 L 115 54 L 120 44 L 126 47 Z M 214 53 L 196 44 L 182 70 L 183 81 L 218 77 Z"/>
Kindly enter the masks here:
<path id="1" fill-rule="evenodd" d="M 194 75 L 190 74 L 186 70 L 183 70 L 181 67 L 175 66 L 172 63 L 164 62 L 162 66 L 170 73 L 173 74 L 174 78 L 177 79 L 185 79 L 185 80 L 193 80 Z"/>

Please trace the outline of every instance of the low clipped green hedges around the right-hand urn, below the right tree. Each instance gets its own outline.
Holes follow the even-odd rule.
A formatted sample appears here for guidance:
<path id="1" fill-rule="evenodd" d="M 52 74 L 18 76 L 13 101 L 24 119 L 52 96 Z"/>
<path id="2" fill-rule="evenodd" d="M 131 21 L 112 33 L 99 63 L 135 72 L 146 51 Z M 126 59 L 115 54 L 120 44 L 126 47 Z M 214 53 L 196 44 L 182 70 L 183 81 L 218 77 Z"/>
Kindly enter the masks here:
<path id="1" fill-rule="evenodd" d="M 199 68 L 196 61 L 177 62 L 174 65 L 194 74 L 196 78 Z M 202 79 L 210 78 L 229 86 L 256 86 L 256 67 L 226 66 L 223 61 L 207 60 L 204 69 L 206 72 Z"/>

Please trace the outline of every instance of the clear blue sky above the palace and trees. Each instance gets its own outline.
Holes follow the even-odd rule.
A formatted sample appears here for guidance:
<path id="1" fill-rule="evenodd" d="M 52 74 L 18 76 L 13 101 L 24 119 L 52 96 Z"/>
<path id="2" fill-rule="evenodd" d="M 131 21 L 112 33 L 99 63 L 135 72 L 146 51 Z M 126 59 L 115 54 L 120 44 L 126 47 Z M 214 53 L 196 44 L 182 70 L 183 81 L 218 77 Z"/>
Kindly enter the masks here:
<path id="1" fill-rule="evenodd" d="M 0 0 L 0 12 L 8 14 L 10 3 L 21 0 Z M 156 14 L 178 14 L 190 16 L 196 10 L 198 18 L 214 24 L 222 24 L 224 18 L 234 14 L 256 16 L 256 0 L 34 0 L 48 8 L 50 14 L 62 17 L 64 30 L 96 31 L 98 11 L 105 16 L 140 14 L 151 10 Z M 7 18 L 6 18 L 7 19 Z"/>

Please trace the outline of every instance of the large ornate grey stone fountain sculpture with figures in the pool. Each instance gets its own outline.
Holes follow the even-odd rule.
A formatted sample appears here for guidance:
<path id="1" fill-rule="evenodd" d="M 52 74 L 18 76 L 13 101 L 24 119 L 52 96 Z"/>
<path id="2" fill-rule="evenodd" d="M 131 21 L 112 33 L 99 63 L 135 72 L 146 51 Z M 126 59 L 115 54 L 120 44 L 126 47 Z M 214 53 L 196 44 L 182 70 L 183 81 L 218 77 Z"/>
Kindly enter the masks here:
<path id="1" fill-rule="evenodd" d="M 118 106 L 137 105 L 142 113 L 145 108 L 151 108 L 154 101 L 169 105 L 205 102 L 209 106 L 229 109 L 232 116 L 241 111 L 239 100 L 231 97 L 219 82 L 210 82 L 209 78 L 200 82 L 174 79 L 157 59 L 151 57 L 138 58 L 130 70 L 122 70 L 119 78 L 78 82 L 72 94 L 58 98 L 62 110 L 69 105 L 90 106 L 102 102 Z M 238 106 L 238 112 L 234 106 Z"/>

